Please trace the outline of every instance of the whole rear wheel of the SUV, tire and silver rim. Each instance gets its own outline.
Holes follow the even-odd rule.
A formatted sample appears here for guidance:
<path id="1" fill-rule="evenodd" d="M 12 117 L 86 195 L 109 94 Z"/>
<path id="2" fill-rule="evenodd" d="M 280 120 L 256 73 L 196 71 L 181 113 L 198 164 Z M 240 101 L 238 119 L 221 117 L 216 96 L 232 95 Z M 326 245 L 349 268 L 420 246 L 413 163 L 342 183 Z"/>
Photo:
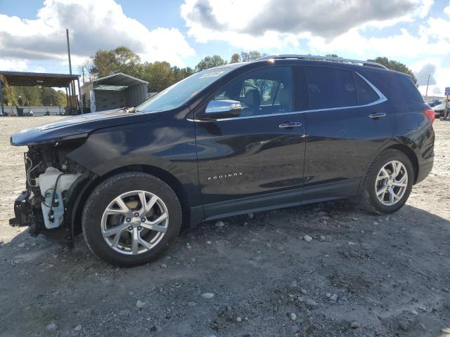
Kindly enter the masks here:
<path id="1" fill-rule="evenodd" d="M 414 170 L 403 152 L 387 150 L 373 161 L 366 173 L 361 208 L 378 214 L 398 211 L 411 193 Z"/>

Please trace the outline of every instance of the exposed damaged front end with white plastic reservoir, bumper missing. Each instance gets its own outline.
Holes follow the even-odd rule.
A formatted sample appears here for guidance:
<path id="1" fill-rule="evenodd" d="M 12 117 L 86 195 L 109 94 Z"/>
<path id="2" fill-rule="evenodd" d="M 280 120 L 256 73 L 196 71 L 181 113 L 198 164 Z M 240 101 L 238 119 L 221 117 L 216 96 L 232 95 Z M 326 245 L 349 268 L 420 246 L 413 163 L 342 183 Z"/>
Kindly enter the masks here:
<path id="1" fill-rule="evenodd" d="M 11 225 L 30 226 L 31 234 L 66 227 L 71 213 L 70 201 L 77 186 L 95 178 L 93 173 L 71 161 L 66 155 L 84 143 L 65 140 L 60 143 L 30 145 L 25 152 L 26 190 L 14 203 Z"/>

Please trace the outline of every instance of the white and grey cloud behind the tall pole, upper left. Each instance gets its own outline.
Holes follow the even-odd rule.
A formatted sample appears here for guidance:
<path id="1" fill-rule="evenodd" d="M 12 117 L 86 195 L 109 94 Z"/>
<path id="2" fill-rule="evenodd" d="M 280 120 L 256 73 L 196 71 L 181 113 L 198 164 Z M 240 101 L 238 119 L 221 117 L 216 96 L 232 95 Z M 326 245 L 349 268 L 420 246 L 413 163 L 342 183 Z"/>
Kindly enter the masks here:
<path id="1" fill-rule="evenodd" d="M 150 30 L 127 17 L 113 0 L 46 0 L 34 20 L 0 14 L 0 22 L 4 58 L 63 61 L 65 28 L 70 30 L 74 60 L 117 46 L 127 46 L 149 62 L 167 60 L 176 65 L 184 65 L 184 58 L 195 54 L 178 29 Z"/>

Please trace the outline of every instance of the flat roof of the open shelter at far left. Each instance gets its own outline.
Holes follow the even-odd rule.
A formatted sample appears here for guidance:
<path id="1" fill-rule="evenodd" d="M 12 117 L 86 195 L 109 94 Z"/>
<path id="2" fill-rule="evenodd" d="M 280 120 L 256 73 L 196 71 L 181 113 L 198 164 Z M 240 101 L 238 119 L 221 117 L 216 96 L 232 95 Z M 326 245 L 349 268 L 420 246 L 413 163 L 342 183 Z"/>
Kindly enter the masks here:
<path id="1" fill-rule="evenodd" d="M 44 72 L 4 72 L 0 70 L 0 80 L 8 86 L 50 86 L 64 88 L 79 75 L 49 74 Z"/>

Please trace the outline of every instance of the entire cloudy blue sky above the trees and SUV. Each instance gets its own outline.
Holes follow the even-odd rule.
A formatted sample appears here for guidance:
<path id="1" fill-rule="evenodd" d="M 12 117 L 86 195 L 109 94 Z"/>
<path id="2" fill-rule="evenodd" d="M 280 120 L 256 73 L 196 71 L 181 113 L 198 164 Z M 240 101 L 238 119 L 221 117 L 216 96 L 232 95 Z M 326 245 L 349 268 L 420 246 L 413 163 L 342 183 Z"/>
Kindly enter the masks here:
<path id="1" fill-rule="evenodd" d="M 68 73 L 99 49 L 195 67 L 207 55 L 386 56 L 450 86 L 450 0 L 0 0 L 0 70 Z"/>

